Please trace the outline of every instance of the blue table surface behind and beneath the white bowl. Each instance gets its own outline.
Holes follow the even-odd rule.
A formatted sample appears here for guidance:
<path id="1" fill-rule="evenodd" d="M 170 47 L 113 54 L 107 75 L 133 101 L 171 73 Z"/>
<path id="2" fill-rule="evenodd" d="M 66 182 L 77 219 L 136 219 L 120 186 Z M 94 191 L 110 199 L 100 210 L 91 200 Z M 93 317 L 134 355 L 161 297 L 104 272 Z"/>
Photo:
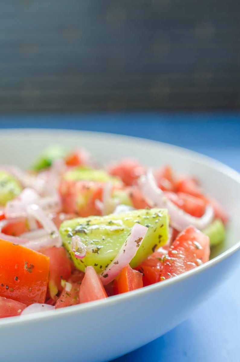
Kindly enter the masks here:
<path id="1" fill-rule="evenodd" d="M 80 129 L 144 137 L 204 153 L 240 171 L 240 113 L 1 115 L 0 128 L 7 127 Z M 240 267 L 190 319 L 115 362 L 240 361 L 239 279 Z"/>

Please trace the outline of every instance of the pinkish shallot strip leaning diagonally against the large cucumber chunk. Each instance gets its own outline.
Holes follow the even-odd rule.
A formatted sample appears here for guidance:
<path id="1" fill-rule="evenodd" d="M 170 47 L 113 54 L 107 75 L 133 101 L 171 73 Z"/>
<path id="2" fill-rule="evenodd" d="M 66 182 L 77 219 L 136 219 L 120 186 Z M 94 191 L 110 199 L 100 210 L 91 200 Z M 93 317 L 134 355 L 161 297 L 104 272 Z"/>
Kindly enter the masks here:
<path id="1" fill-rule="evenodd" d="M 124 242 L 117 256 L 100 274 L 103 285 L 113 281 L 120 271 L 130 263 L 132 258 L 136 255 L 147 231 L 148 228 L 146 226 L 137 223 L 133 226 L 130 235 L 127 237 L 127 240 Z"/>

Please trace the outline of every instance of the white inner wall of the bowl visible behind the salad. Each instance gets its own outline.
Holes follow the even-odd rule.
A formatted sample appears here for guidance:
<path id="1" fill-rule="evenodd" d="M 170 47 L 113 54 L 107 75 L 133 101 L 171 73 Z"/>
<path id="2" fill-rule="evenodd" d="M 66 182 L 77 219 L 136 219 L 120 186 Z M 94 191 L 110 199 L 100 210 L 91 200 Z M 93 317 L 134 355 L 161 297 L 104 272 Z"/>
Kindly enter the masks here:
<path id="1" fill-rule="evenodd" d="M 122 157 L 134 157 L 149 167 L 171 164 L 179 173 L 197 176 L 203 188 L 218 199 L 229 212 L 227 239 L 215 248 L 212 256 L 227 250 L 240 239 L 240 176 L 227 166 L 168 144 L 127 136 L 70 130 L 4 130 L 0 133 L 0 163 L 27 168 L 49 144 L 72 149 L 86 147 L 100 163 Z"/>

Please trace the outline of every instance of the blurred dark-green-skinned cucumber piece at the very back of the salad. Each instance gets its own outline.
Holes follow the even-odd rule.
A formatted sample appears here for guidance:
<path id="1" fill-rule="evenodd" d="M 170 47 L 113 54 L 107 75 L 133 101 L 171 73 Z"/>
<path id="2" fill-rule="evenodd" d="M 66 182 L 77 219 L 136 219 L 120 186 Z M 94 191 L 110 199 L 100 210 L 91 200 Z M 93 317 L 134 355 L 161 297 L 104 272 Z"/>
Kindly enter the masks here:
<path id="1" fill-rule="evenodd" d="M 41 171 L 48 168 L 53 164 L 53 161 L 65 157 L 66 154 L 67 151 L 62 146 L 57 144 L 49 146 L 40 154 L 40 156 L 38 156 L 37 160 L 32 165 L 32 169 L 34 171 Z"/>

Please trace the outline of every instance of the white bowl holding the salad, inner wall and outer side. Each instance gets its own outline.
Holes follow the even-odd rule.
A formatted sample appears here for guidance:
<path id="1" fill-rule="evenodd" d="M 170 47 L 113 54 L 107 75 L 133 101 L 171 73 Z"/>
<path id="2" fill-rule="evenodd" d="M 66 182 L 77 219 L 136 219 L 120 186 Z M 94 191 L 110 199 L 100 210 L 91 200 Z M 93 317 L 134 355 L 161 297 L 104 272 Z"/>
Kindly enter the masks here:
<path id="1" fill-rule="evenodd" d="M 107 300 L 0 320 L 1 361 L 108 361 L 181 323 L 239 263 L 240 175 L 179 147 L 66 130 L 0 131 L 0 163 L 27 167 L 50 143 L 69 148 L 85 146 L 103 162 L 132 156 L 149 166 L 169 163 L 176 171 L 198 176 L 231 215 L 224 246 L 216 251 L 215 258 L 194 270 Z"/>

